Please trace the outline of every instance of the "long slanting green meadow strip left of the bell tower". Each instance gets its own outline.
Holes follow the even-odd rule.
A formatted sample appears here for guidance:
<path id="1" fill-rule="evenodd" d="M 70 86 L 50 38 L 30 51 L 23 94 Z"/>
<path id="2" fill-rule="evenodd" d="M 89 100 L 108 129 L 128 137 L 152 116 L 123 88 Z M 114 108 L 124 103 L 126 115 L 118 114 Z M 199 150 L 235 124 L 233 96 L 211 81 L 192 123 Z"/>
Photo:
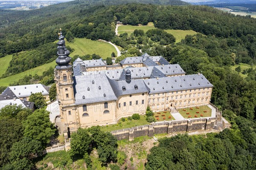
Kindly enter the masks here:
<path id="1" fill-rule="evenodd" d="M 35 67 L 33 69 L 26 70 L 24 72 L 18 73 L 16 75 L 11 75 L 6 78 L 0 79 L 0 86 L 8 86 L 10 83 L 13 83 L 14 81 L 18 81 L 20 78 L 23 78 L 25 75 L 42 75 L 44 71 L 47 71 L 50 66 L 55 67 L 56 63 L 55 61 L 52 61 L 50 63 L 46 63 L 44 65 Z"/>

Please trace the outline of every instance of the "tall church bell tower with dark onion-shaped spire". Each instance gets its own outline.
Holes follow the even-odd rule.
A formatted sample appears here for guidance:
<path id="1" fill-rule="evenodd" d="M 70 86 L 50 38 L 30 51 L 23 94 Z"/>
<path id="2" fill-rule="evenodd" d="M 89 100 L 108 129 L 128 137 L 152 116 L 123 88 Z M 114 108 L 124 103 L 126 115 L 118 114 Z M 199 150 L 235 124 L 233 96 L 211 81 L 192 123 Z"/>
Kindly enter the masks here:
<path id="1" fill-rule="evenodd" d="M 58 58 L 55 67 L 55 83 L 57 87 L 57 100 L 60 104 L 60 109 L 64 106 L 69 106 L 75 103 L 74 90 L 73 90 L 73 78 L 72 78 L 72 66 L 70 65 L 70 52 L 65 46 L 64 36 L 61 33 L 59 35 L 58 47 Z"/>

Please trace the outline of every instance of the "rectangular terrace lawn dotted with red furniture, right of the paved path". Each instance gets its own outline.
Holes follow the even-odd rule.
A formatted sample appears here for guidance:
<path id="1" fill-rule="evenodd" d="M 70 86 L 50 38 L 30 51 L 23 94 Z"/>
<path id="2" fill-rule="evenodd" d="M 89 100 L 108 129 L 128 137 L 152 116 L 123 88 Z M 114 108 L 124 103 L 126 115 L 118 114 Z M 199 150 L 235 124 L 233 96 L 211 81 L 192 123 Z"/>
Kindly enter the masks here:
<path id="1" fill-rule="evenodd" d="M 207 111 L 207 112 L 204 112 L 204 111 Z M 200 118 L 201 114 L 203 115 L 202 117 L 211 117 L 212 115 L 212 109 L 210 109 L 206 105 L 199 106 L 198 108 L 196 107 L 181 108 L 181 109 L 178 109 L 178 112 L 180 113 L 180 115 L 183 116 L 183 118 L 189 118 L 188 117 L 189 115 L 191 116 L 191 118 L 195 118 L 195 115 L 197 115 L 198 118 Z M 189 114 L 186 114 L 186 113 L 189 113 Z"/>

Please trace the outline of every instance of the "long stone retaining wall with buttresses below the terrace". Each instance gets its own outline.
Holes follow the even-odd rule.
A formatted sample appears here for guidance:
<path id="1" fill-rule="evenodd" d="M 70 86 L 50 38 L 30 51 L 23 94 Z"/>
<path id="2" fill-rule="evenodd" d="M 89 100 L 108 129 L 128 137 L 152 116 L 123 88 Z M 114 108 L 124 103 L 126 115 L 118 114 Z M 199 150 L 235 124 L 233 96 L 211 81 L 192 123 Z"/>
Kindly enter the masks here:
<path id="1" fill-rule="evenodd" d="M 177 133 L 192 132 L 197 130 L 211 130 L 216 124 L 217 118 L 200 118 L 184 121 L 166 121 L 162 123 L 154 123 L 151 125 L 143 125 L 138 127 L 126 128 L 122 130 L 114 130 L 111 133 L 118 140 L 128 139 L 129 141 L 140 136 L 154 136 L 161 133 Z"/>

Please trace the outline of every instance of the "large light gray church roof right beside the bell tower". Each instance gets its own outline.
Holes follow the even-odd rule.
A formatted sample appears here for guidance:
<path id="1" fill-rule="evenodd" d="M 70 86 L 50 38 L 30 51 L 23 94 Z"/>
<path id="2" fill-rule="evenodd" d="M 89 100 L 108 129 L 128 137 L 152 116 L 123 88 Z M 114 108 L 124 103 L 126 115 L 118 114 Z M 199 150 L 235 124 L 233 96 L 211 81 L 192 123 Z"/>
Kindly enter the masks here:
<path id="1" fill-rule="evenodd" d="M 101 76 L 101 74 L 81 75 L 73 77 L 73 80 L 76 104 L 113 101 L 117 99 L 106 76 Z M 99 89 L 99 86 L 101 89 Z M 90 89 L 89 91 L 88 88 Z M 104 97 L 104 94 L 106 97 Z M 83 99 L 83 96 L 85 99 Z"/>

